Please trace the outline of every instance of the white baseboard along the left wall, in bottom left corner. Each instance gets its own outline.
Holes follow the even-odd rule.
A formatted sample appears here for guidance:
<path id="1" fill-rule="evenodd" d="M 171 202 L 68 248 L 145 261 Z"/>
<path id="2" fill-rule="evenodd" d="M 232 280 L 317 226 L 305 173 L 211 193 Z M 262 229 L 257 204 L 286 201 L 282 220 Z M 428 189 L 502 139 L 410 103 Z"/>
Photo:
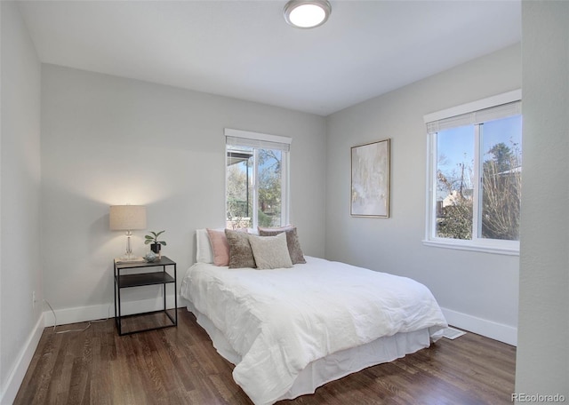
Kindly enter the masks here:
<path id="1" fill-rule="evenodd" d="M 43 332 L 44 314 L 41 314 L 36 322 L 36 326 L 34 326 L 34 329 L 30 332 L 28 339 L 26 339 L 26 343 L 22 346 L 22 350 L 18 355 L 16 363 L 6 380 L 4 389 L 0 392 L 0 404 L 12 404 L 16 399 L 21 382 L 24 380 L 24 377 L 26 377 L 29 363 L 31 363 L 34 353 L 36 353 L 36 348 Z"/>

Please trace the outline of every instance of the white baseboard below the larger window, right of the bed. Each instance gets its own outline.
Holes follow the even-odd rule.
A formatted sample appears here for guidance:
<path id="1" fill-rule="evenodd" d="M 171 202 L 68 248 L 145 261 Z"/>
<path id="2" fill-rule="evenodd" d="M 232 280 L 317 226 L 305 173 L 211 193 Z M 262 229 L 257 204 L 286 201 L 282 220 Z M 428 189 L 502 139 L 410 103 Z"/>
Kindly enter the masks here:
<path id="1" fill-rule="evenodd" d="M 461 330 L 469 330 L 478 335 L 492 338 L 508 345 L 517 345 L 517 328 L 503 323 L 488 321 L 469 314 L 462 314 L 447 308 L 441 308 L 446 322 Z"/>

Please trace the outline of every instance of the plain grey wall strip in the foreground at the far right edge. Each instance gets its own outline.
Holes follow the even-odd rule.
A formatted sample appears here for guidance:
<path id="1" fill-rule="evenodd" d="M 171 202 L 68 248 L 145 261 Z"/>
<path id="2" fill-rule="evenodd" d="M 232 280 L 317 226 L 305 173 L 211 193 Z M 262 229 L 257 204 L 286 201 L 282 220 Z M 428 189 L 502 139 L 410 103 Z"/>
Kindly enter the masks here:
<path id="1" fill-rule="evenodd" d="M 569 3 L 522 5 L 524 177 L 517 393 L 569 400 Z"/>

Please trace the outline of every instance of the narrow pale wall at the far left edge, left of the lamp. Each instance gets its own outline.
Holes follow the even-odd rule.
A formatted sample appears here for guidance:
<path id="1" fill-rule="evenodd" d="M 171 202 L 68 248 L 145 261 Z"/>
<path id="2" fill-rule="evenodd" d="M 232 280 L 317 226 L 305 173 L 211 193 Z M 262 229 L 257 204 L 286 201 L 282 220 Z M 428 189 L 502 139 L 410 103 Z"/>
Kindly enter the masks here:
<path id="1" fill-rule="evenodd" d="M 16 5 L 3 1 L 0 10 L 0 402 L 10 403 L 41 333 L 40 64 Z"/>

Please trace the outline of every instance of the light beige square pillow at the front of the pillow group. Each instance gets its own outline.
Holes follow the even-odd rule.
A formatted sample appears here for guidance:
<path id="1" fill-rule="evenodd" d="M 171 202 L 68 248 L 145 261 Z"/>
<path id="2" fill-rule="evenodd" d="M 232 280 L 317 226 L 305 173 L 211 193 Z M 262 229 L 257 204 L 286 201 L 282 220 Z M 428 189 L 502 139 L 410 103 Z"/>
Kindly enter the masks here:
<path id="1" fill-rule="evenodd" d="M 287 268 L 293 266 L 286 244 L 286 234 L 276 236 L 249 235 L 252 256 L 259 269 Z"/>

